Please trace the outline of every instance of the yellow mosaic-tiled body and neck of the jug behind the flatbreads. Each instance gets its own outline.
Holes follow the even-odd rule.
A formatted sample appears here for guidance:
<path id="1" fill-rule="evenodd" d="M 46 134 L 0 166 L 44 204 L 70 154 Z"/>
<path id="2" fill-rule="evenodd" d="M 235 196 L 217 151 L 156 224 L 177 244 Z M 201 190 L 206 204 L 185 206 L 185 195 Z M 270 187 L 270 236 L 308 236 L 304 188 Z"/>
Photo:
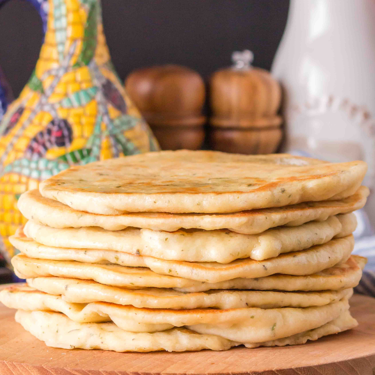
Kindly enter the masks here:
<path id="1" fill-rule="evenodd" d="M 99 0 L 27 0 L 45 31 L 36 68 L 0 122 L 1 252 L 21 193 L 71 165 L 158 150 L 111 63 Z M 0 5 L 3 3 L 0 0 Z"/>

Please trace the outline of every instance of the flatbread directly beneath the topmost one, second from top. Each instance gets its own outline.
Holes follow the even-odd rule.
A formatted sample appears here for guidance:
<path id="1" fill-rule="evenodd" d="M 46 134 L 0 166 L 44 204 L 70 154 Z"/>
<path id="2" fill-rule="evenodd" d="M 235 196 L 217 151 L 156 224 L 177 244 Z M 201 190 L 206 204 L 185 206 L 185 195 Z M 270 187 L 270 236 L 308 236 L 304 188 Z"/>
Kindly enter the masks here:
<path id="1" fill-rule="evenodd" d="M 345 199 L 299 203 L 279 208 L 242 211 L 223 214 L 173 214 L 165 212 L 139 212 L 122 215 L 97 215 L 77 211 L 53 199 L 44 198 L 38 190 L 29 190 L 18 199 L 18 208 L 29 220 L 53 228 L 81 228 L 98 226 L 118 231 L 128 226 L 154 231 L 176 231 L 180 228 L 204 230 L 230 229 L 243 234 L 257 234 L 280 225 L 297 226 L 329 216 L 348 213 L 362 208 L 369 189 L 361 186 Z"/>

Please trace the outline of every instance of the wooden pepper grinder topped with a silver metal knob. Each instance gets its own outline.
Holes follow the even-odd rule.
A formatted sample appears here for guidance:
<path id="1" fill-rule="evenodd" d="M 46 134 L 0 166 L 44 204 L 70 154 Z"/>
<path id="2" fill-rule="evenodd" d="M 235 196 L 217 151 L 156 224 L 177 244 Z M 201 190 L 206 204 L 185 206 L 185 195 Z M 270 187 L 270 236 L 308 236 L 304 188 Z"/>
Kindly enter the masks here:
<path id="1" fill-rule="evenodd" d="M 233 52 L 234 65 L 210 79 L 210 144 L 214 150 L 242 154 L 276 151 L 282 136 L 279 84 L 251 66 L 251 51 Z"/>

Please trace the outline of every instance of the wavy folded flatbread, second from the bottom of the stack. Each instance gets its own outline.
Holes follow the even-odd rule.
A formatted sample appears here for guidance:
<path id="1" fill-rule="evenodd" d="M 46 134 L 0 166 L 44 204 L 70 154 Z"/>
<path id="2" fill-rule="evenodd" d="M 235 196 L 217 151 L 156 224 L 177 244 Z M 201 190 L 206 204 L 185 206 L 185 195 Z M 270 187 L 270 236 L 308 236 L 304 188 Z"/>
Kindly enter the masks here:
<path id="1" fill-rule="evenodd" d="M 25 286 L 1 291 L 0 301 L 12 309 L 63 312 L 78 323 L 113 321 L 121 329 L 130 332 L 157 332 L 183 326 L 189 326 L 193 331 L 196 326 L 198 331 L 205 328 L 221 329 L 218 336 L 228 338 L 228 332 L 232 337 L 229 339 L 241 342 L 267 341 L 314 329 L 332 321 L 349 308 L 346 298 L 328 305 L 302 309 L 170 310 L 135 308 L 105 302 L 86 305 L 68 303 L 61 296 L 52 296 Z"/>

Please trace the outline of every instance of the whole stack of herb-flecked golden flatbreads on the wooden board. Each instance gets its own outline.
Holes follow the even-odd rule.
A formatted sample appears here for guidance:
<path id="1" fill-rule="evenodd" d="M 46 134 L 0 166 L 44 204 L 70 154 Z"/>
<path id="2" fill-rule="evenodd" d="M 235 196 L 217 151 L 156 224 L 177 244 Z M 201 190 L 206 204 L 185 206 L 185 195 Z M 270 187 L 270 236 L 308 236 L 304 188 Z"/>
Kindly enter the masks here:
<path id="1" fill-rule="evenodd" d="M 52 347 L 227 350 L 357 325 L 364 162 L 161 151 L 75 166 L 21 195 L 27 285 L 0 300 Z"/>

